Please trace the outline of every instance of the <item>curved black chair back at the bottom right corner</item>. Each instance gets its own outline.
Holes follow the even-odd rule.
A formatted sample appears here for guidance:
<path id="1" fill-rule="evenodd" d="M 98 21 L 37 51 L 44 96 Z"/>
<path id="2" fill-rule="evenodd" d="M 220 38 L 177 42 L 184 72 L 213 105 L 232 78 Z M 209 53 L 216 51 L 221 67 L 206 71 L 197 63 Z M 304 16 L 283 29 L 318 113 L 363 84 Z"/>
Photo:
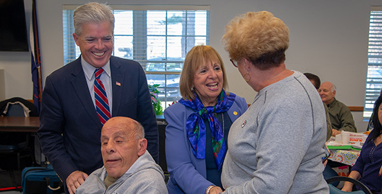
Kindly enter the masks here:
<path id="1" fill-rule="evenodd" d="M 340 181 L 345 181 L 345 182 L 352 182 L 352 184 L 358 186 L 359 188 L 361 188 L 360 191 L 352 191 L 352 192 L 345 192 L 345 191 L 340 191 L 340 189 L 336 188 L 335 186 L 333 186 L 331 183 L 334 183 L 334 182 L 340 182 Z M 326 179 L 326 182 L 327 184 L 329 184 L 329 193 L 330 194 L 345 194 L 345 193 L 351 193 L 351 194 L 361 194 L 361 193 L 364 193 L 364 194 L 373 194 L 372 191 L 370 191 L 369 188 L 367 188 L 367 186 L 365 186 L 365 184 L 359 182 L 358 180 L 356 179 L 352 179 L 350 177 L 330 177 L 329 179 Z"/>

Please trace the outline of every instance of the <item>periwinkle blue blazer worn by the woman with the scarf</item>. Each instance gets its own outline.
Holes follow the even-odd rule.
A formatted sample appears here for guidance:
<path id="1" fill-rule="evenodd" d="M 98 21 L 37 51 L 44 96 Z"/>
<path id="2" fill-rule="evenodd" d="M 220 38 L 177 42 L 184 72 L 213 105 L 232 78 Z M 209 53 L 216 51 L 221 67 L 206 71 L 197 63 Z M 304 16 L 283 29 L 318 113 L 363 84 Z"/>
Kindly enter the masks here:
<path id="1" fill-rule="evenodd" d="M 227 113 L 234 122 L 248 109 L 246 100 L 236 96 Z M 185 123 L 188 116 L 194 113 L 181 103 L 175 103 L 165 109 L 166 127 L 165 153 L 167 170 L 170 179 L 167 182 L 168 193 L 205 193 L 206 188 L 213 185 L 206 173 L 206 160 L 197 159 L 192 153 Z M 228 148 L 229 149 L 229 148 Z"/>

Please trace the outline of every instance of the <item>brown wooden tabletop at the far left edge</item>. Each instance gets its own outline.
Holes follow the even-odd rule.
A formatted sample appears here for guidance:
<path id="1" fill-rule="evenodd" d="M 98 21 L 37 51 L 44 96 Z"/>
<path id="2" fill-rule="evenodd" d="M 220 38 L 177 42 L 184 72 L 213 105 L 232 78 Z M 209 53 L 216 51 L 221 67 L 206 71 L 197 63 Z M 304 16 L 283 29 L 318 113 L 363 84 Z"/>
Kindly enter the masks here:
<path id="1" fill-rule="evenodd" d="M 39 117 L 0 116 L 0 132 L 37 132 Z"/>

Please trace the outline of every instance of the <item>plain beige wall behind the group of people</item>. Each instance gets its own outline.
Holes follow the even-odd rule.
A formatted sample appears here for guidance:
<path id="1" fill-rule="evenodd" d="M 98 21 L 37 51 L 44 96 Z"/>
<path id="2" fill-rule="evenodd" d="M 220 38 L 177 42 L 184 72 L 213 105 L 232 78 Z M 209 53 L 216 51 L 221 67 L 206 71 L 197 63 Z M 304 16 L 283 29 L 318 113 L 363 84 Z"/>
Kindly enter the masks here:
<path id="1" fill-rule="evenodd" d="M 30 21 L 31 1 L 24 0 L 27 21 Z M 63 65 L 62 5 L 82 4 L 88 0 L 37 0 L 37 17 L 42 53 L 42 76 L 45 80 Z M 109 0 L 109 4 L 176 4 L 210 5 L 210 44 L 226 62 L 230 91 L 251 103 L 255 91 L 240 78 L 229 63 L 221 44 L 224 26 L 247 11 L 268 10 L 289 26 L 290 47 L 286 52 L 286 67 L 315 73 L 322 82 L 334 82 L 337 99 L 349 106 L 363 106 L 367 64 L 367 33 L 371 6 L 382 6 L 380 0 Z M 5 98 L 32 98 L 30 53 L 0 52 L 0 69 L 4 69 Z M 1 95 L 0 95 L 1 96 Z M 0 99 L 3 100 L 3 99 Z M 360 131 L 367 122 L 362 113 L 354 112 Z"/>

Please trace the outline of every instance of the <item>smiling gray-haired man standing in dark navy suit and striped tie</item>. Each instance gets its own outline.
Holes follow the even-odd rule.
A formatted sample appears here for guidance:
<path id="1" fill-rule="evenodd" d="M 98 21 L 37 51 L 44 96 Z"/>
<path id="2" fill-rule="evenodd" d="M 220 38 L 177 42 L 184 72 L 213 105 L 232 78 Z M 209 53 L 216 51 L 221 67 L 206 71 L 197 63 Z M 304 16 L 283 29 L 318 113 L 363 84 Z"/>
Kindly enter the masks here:
<path id="1" fill-rule="evenodd" d="M 73 19 L 73 38 L 81 56 L 46 78 L 37 132 L 66 193 L 75 193 L 90 173 L 102 167 L 101 128 L 112 116 L 140 122 L 147 150 L 158 161 L 158 128 L 145 72 L 138 62 L 111 56 L 114 17 L 109 6 L 87 3 L 75 10 Z M 95 76 L 101 68 L 100 76 Z"/>

